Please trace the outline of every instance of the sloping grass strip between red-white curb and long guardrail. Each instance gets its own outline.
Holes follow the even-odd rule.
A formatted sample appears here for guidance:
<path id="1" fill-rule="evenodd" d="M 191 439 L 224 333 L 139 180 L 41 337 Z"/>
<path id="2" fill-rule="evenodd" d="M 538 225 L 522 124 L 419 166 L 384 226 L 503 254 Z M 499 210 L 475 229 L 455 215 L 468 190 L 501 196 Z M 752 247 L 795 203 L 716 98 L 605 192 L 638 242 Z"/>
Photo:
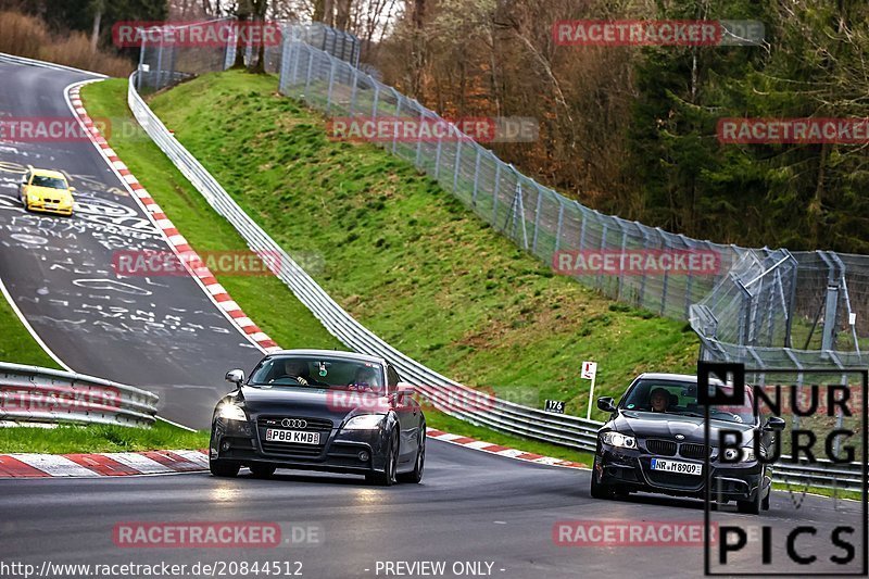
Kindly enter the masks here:
<path id="1" fill-rule="evenodd" d="M 83 100 L 91 117 L 112 119 L 109 142 L 169 219 L 202 251 L 247 250 L 241 236 L 214 213 L 175 165 L 139 128 L 126 105 L 127 83 L 87 85 Z M 341 349 L 320 323 L 274 276 L 218 275 L 217 280 L 272 339 L 284 348 Z"/>

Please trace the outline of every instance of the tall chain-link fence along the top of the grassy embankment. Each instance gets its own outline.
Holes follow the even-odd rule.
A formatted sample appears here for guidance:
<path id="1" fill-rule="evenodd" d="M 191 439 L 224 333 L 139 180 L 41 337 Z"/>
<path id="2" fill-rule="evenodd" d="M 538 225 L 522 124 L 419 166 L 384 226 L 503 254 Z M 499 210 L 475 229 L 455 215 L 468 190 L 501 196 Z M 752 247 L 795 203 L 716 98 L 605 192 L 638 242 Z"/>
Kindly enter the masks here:
<path id="1" fill-rule="evenodd" d="M 395 130 L 380 144 L 556 270 L 562 270 L 559 256 L 582 252 L 715 255 L 714 270 L 569 273 L 610 298 L 689 320 L 701 338 L 703 358 L 758 367 L 866 366 L 869 257 L 746 249 L 604 215 L 522 175 L 437 113 L 360 70 L 360 42 L 352 35 L 322 24 L 281 23 L 281 38 L 280 46 L 266 48 L 265 56 L 266 71 L 279 75 L 282 95 L 331 117 L 448 126 L 448 135 L 433 139 L 400 139 Z M 247 62 L 252 50 L 248 47 Z M 142 63 L 156 65 L 140 67 L 138 81 L 162 88 L 228 67 L 236 42 L 211 52 L 182 52 L 161 51 L 159 42 L 143 47 Z"/>

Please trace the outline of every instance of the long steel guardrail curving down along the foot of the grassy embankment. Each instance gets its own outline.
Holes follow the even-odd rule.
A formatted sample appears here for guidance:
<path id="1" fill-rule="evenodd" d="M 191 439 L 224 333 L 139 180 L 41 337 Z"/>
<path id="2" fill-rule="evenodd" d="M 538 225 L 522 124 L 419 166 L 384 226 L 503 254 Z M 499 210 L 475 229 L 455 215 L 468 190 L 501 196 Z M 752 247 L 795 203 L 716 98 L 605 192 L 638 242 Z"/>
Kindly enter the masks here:
<path id="1" fill-rule="evenodd" d="M 439 410 L 451 416 L 479 426 L 519 435 L 530 439 L 552 442 L 579 451 L 594 452 L 597 429 L 602 423 L 585 420 L 577 416 L 555 415 L 506 400 L 490 397 L 486 410 L 463 410 L 455 404 L 457 394 L 467 392 L 480 397 L 480 392 L 464 387 L 427 368 L 419 362 L 398 351 L 348 314 L 328 293 L 302 269 L 284 249 L 272 239 L 221 184 L 202 166 L 187 149 L 169 134 L 163 123 L 142 101 L 136 91 L 135 73 L 130 76 L 127 101 L 136 119 L 156 146 L 172 160 L 178 171 L 205 198 L 209 204 L 225 217 L 244 238 L 252 251 L 279 255 L 274 270 L 293 294 L 307 307 L 323 326 L 344 345 L 365 354 L 377 355 L 395 365 L 404 380 L 415 386 Z M 776 480 L 792 483 L 811 482 L 813 487 L 859 489 L 860 465 L 832 465 L 820 463 L 809 467 L 782 465 L 777 469 Z M 845 474 L 847 476 L 845 476 Z M 854 486 L 856 481 L 856 487 Z"/>

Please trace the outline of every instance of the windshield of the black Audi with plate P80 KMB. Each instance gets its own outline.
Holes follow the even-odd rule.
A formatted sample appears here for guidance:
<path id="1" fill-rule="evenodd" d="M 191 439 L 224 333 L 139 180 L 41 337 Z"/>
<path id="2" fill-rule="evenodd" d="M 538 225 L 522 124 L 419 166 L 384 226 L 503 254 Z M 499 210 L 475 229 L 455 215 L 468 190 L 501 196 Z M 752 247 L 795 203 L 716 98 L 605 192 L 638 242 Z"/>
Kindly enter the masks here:
<path id="1" fill-rule="evenodd" d="M 338 357 L 267 357 L 253 369 L 248 386 L 386 393 L 383 367 L 380 364 Z"/>

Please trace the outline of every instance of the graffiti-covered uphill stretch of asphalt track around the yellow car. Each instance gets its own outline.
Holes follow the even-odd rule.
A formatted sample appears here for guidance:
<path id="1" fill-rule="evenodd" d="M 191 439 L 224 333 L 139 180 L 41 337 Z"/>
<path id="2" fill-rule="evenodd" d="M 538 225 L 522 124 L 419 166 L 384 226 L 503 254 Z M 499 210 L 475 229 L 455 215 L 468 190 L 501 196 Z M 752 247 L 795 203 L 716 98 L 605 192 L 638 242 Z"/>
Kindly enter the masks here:
<path id="1" fill-rule="evenodd" d="M 0 63 L 0 115 L 73 118 L 64 88 L 81 74 Z M 72 218 L 26 213 L 27 164 L 65 172 Z M 49 349 L 76 372 L 160 394 L 161 414 L 206 427 L 226 370 L 260 351 L 189 276 L 118 278 L 118 250 L 169 251 L 90 141 L 0 142 L 0 279 Z"/>

